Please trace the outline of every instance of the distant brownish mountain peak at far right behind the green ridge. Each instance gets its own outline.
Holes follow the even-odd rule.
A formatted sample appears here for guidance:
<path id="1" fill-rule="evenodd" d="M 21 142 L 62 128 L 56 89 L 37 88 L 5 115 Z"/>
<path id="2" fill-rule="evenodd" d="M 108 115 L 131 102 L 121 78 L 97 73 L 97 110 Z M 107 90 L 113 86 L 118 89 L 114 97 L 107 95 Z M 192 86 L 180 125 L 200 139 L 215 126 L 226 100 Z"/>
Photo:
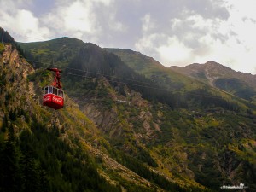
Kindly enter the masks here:
<path id="1" fill-rule="evenodd" d="M 183 73 L 194 79 L 199 79 L 218 89 L 230 92 L 235 96 L 255 103 L 256 76 L 250 73 L 241 73 L 224 67 L 214 61 L 205 64 L 194 63 L 186 67 L 170 67 L 172 70 Z"/>

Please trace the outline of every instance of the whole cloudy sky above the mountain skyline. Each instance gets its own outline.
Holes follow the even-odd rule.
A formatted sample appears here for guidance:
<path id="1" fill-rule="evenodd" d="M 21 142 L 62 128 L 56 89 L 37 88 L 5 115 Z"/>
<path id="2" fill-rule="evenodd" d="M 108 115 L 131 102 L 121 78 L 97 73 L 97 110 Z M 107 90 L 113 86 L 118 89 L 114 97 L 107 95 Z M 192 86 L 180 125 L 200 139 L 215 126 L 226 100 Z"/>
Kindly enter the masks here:
<path id="1" fill-rule="evenodd" d="M 256 74 L 255 0 L 0 0 L 0 8 L 16 41 L 67 36 L 166 67 L 217 61 Z"/>

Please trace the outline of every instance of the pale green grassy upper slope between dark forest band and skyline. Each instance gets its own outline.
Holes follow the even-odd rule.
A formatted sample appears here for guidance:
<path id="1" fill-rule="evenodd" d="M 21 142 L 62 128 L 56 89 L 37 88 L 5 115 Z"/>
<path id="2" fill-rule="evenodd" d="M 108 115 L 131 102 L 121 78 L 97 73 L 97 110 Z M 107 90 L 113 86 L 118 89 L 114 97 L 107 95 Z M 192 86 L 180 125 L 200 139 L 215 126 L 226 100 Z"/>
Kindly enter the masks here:
<path id="1" fill-rule="evenodd" d="M 166 84 L 166 87 L 172 90 L 188 92 L 190 90 L 209 90 L 213 96 L 221 96 L 225 100 L 230 102 L 238 103 L 241 108 L 253 108 L 255 110 L 256 106 L 246 100 L 236 97 L 223 90 L 215 89 L 206 83 L 202 83 L 200 80 L 191 79 L 186 77 L 181 73 L 177 73 L 170 68 L 164 67 L 160 62 L 155 61 L 153 58 L 141 53 L 129 50 L 129 49 L 107 49 L 109 52 L 118 55 L 122 61 L 125 62 L 129 67 L 136 70 L 138 73 L 142 73 L 149 79 L 155 79 L 160 82 L 160 84 Z"/>

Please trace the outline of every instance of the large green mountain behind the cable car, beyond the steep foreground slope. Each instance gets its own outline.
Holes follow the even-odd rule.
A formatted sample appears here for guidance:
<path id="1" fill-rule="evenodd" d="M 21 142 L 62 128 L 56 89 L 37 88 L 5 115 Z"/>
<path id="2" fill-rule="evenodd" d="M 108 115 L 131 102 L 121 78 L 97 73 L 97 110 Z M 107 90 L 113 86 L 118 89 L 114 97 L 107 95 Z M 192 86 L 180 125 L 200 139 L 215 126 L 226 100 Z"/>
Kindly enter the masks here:
<path id="1" fill-rule="evenodd" d="M 69 139 L 77 138 L 75 136 L 80 138 L 71 140 L 71 146 L 81 142 L 84 148 L 92 146 L 99 149 L 95 152 L 96 161 L 92 161 L 96 162 L 97 169 L 110 183 L 117 184 L 123 191 L 199 191 L 206 188 L 218 191 L 223 184 L 236 183 L 255 188 L 253 158 L 256 126 L 254 108 L 248 102 L 241 103 L 236 96 L 224 94 L 207 84 L 198 83 L 198 80 L 178 76 L 178 73 L 170 73 L 166 67 L 161 67 L 165 70 L 156 70 L 158 66 L 150 64 L 150 71 L 145 68 L 148 65 L 144 61 L 152 60 L 139 53 L 133 55 L 133 51 L 128 54 L 124 53 L 125 50 L 120 52 L 126 54 L 126 59 L 134 57 L 136 65 L 132 60 L 128 63 L 125 57 L 116 56 L 118 52 L 116 55 L 108 54 L 96 45 L 78 44 L 76 49 L 72 46 L 61 47 L 63 44 L 55 46 L 55 40 L 50 44 L 37 43 L 30 47 L 30 54 L 34 56 L 28 61 L 38 59 L 42 67 L 28 79 L 37 90 L 34 99 L 38 104 L 29 102 L 37 106 L 32 113 L 37 113 L 42 122 L 49 122 L 49 115 L 53 112 L 40 105 L 40 88 L 49 84 L 51 77 L 44 71 L 46 65 L 69 67 L 73 70 L 69 73 L 82 69 L 82 73 L 76 71 L 75 75 L 68 75 L 67 71 L 62 74 L 70 102 L 67 100 L 63 110 L 54 113 L 49 128 L 66 126 L 66 129 L 60 130 L 63 134 L 68 133 Z M 30 51 L 25 46 L 22 49 L 26 53 Z M 48 53 L 54 53 L 54 57 Z M 132 67 L 125 67 L 132 64 L 140 75 Z M 87 70 L 91 72 L 90 76 L 83 74 L 86 67 L 91 69 Z M 119 73 L 124 69 L 125 73 Z M 162 84 L 169 90 L 162 95 L 158 95 L 160 91 L 150 90 L 148 93 L 140 86 L 117 80 L 125 77 L 158 86 Z M 1 78 L 4 79 L 3 76 Z M 170 79 L 172 84 L 169 84 Z M 169 97 L 170 102 L 166 102 L 165 97 Z M 115 102 L 113 98 L 130 101 L 131 105 Z M 15 120 L 9 121 L 16 123 Z M 83 154 L 86 151 L 84 148 L 79 148 L 78 153 Z M 52 148 L 49 148 L 50 151 Z M 122 166 L 118 164 L 112 164 L 118 169 L 107 166 L 102 161 L 108 163 L 111 160 L 108 161 L 105 154 L 136 172 L 142 179 L 128 172 L 125 177 L 125 172 L 121 172 Z M 61 160 L 59 163 L 64 169 L 65 164 L 62 165 Z"/>

